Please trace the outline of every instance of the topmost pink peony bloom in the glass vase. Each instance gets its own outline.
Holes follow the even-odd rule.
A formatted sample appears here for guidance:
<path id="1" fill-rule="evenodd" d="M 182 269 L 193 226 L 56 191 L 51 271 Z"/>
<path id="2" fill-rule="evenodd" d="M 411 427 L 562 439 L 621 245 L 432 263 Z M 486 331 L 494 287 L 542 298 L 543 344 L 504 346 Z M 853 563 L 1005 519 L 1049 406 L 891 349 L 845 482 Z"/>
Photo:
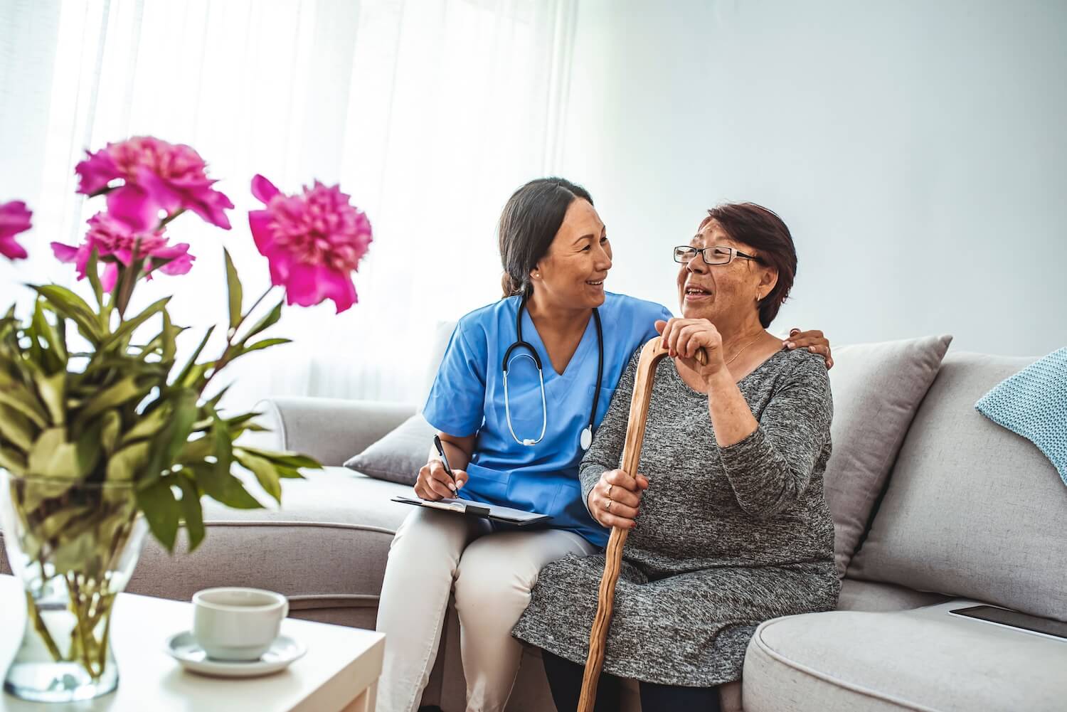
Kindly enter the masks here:
<path id="1" fill-rule="evenodd" d="M 229 230 L 225 210 L 234 204 L 214 190 L 207 164 L 193 148 L 150 136 L 109 143 L 78 163 L 79 193 L 92 195 L 122 178 L 108 192 L 108 209 L 139 232 L 155 230 L 159 211 L 186 208 L 206 222 Z"/>

